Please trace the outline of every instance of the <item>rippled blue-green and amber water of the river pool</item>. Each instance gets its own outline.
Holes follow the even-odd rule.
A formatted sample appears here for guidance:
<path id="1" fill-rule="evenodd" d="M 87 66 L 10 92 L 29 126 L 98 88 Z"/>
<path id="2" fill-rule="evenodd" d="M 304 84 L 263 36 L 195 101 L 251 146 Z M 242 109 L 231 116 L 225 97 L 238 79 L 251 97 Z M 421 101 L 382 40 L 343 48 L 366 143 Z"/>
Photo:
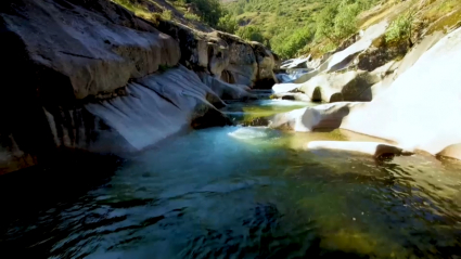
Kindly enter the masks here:
<path id="1" fill-rule="evenodd" d="M 242 120 L 242 111 L 290 106 L 270 102 L 228 112 Z M 0 224 L 0 258 L 461 256 L 461 165 L 304 150 L 309 140 L 357 138 L 366 139 L 264 127 L 191 132 L 106 177 L 75 176 L 85 191 L 48 184 L 23 190 L 22 205 L 3 202 L 1 213 L 14 217 Z M 41 192 L 54 202 L 34 198 Z"/>

